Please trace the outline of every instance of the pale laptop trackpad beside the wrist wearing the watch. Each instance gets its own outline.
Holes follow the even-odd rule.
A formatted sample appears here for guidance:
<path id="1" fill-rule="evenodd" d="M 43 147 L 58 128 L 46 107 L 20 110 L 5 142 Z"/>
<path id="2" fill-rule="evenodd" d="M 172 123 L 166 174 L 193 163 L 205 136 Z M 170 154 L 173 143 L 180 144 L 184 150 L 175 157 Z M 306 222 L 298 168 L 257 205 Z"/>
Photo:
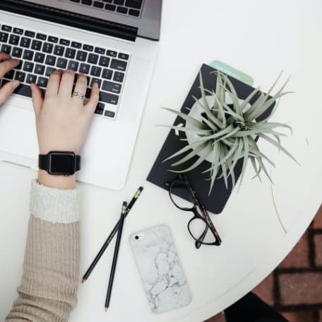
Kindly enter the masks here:
<path id="1" fill-rule="evenodd" d="M 0 159 L 1 152 L 37 159 L 38 144 L 33 110 L 16 108 L 8 103 L 0 106 Z"/>

